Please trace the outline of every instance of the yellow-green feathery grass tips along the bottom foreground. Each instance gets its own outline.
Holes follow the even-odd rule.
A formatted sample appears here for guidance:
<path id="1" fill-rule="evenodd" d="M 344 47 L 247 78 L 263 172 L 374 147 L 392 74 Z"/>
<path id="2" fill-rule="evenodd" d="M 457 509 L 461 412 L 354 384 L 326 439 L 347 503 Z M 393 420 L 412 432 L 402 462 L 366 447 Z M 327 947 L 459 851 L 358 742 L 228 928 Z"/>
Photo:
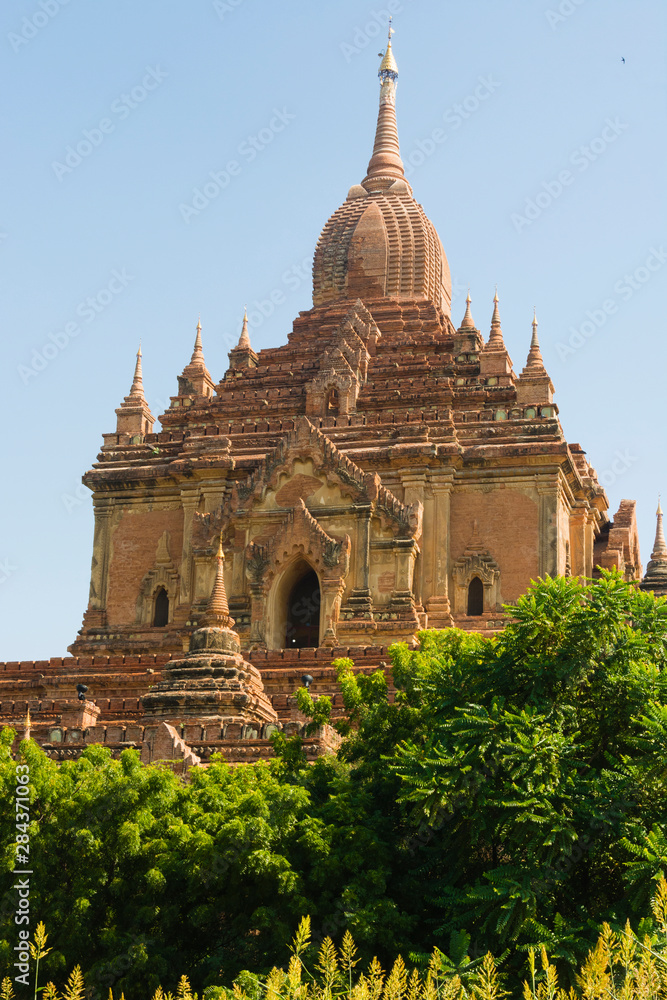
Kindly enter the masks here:
<path id="1" fill-rule="evenodd" d="M 651 900 L 655 931 L 640 940 L 630 923 L 622 931 L 614 931 L 603 924 L 597 944 L 591 948 L 578 974 L 571 969 L 570 978 L 577 983 L 576 991 L 564 990 L 559 985 L 558 970 L 550 961 L 544 946 L 537 960 L 535 950 L 527 955 L 526 975 L 521 993 L 523 1000 L 664 1000 L 667 995 L 667 881 L 660 879 L 655 897 Z M 62 991 L 49 981 L 38 986 L 39 961 L 49 953 L 48 935 L 43 924 L 35 932 L 30 944 L 35 962 L 35 995 L 42 993 L 42 1000 L 84 1000 L 86 985 L 77 966 L 70 974 Z M 250 971 L 242 972 L 232 988 L 208 986 L 202 1000 L 502 1000 L 510 995 L 505 980 L 490 952 L 477 962 L 470 962 L 457 969 L 446 955 L 434 948 L 428 968 L 422 972 L 409 970 L 399 955 L 387 975 L 377 958 L 365 971 L 356 966 L 361 959 L 354 939 L 345 931 L 336 949 L 327 937 L 313 967 L 304 958 L 311 944 L 310 917 L 304 917 L 290 948 L 292 956 L 287 969 L 274 967 L 267 976 Z M 518 982 L 507 983 L 520 992 Z M 12 981 L 6 977 L 0 983 L 1 1000 L 15 1000 Z M 109 1000 L 114 1000 L 109 991 Z M 123 995 L 121 994 L 121 1000 Z M 198 1000 L 188 976 L 181 976 L 176 994 L 166 992 L 161 986 L 152 1000 Z"/>

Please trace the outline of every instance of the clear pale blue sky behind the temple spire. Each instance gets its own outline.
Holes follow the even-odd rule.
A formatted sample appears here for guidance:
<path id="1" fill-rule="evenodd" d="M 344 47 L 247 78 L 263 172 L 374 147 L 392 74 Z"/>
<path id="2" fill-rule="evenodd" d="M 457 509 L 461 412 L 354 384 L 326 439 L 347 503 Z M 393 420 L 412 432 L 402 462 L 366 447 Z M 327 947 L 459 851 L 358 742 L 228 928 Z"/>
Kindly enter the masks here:
<path id="1" fill-rule="evenodd" d="M 463 290 L 454 320 L 469 284 L 486 333 L 497 283 L 520 370 L 537 308 L 565 433 L 612 510 L 637 499 L 645 564 L 667 494 L 667 7 L 392 7 L 401 147 Z M 370 155 L 386 10 L 3 4 L 0 659 L 62 655 L 80 627 L 92 548 L 80 478 L 115 429 L 139 340 L 157 415 L 200 311 L 219 379 L 245 302 L 256 348 L 284 343 L 309 308 L 315 242 Z M 209 175 L 232 161 L 216 194 Z M 184 209 L 207 182 L 215 197 Z"/>

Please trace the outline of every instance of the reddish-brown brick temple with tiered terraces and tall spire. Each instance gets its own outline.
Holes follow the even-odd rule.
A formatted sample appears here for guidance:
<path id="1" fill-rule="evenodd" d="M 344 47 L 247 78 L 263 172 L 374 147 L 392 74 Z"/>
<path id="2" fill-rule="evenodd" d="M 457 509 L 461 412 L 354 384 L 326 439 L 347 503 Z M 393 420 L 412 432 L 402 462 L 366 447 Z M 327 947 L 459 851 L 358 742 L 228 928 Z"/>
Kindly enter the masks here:
<path id="1" fill-rule="evenodd" d="M 83 477 L 95 535 L 72 655 L 0 674 L 3 722 L 22 730 L 29 708 L 57 759 L 87 742 L 183 766 L 268 756 L 272 732 L 303 724 L 304 674 L 339 709 L 337 656 L 371 670 L 423 628 L 490 634 L 546 574 L 641 577 L 634 502 L 610 519 L 565 440 L 537 320 L 517 374 L 497 294 L 487 334 L 470 296 L 452 317 L 401 162 L 391 34 L 379 78 L 366 176 L 322 230 L 287 343 L 254 351 L 245 318 L 216 381 L 198 324 L 159 431 L 137 356 Z M 643 586 L 667 592 L 661 513 Z M 334 747 L 329 730 L 306 743 Z"/>

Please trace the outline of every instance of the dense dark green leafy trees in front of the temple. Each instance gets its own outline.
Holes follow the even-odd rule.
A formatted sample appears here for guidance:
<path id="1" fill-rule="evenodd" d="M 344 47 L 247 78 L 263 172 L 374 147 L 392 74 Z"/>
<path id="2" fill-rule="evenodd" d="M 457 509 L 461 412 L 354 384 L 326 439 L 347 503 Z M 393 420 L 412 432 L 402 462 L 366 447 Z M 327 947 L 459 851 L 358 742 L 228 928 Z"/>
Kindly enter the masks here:
<path id="1" fill-rule="evenodd" d="M 187 972 L 193 988 L 267 973 L 305 914 L 313 939 L 354 936 L 365 962 L 452 968 L 492 952 L 517 974 L 545 945 L 563 981 L 603 922 L 652 933 L 667 862 L 667 602 L 614 575 L 540 581 L 497 639 L 424 632 L 384 674 L 338 673 L 337 759 L 191 772 L 90 747 L 56 766 L 32 742 L 31 912 L 87 985 L 133 1000 Z M 326 719 L 327 699 L 302 707 Z M 12 805 L 12 734 L 0 795 Z M 12 899 L 13 811 L 0 816 Z M 12 907 L 13 910 L 13 907 Z M 642 922 L 643 918 L 643 922 Z M 13 912 L 0 906 L 0 968 Z"/>

